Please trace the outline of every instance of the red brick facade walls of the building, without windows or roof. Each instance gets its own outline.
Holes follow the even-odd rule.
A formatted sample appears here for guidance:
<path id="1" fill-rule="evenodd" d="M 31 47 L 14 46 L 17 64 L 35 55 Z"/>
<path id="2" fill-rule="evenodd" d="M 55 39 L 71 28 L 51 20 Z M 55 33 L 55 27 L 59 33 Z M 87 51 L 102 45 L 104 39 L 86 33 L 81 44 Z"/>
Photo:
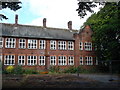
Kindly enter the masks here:
<path id="1" fill-rule="evenodd" d="M 16 38 L 16 46 L 15 48 L 6 48 L 6 38 L 9 38 L 10 36 L 3 36 L 3 47 L 2 47 L 2 63 L 4 65 L 4 60 L 5 60 L 5 55 L 14 55 L 15 56 L 15 65 L 18 65 L 18 56 L 23 55 L 25 56 L 25 65 L 23 67 L 25 68 L 35 68 L 38 70 L 42 69 L 48 69 L 50 65 L 50 56 L 56 56 L 56 65 L 59 66 L 60 68 L 66 68 L 69 66 L 79 66 L 80 65 L 80 57 L 83 57 L 83 67 L 85 68 L 90 68 L 94 67 L 96 65 L 95 61 L 95 53 L 94 53 L 94 48 L 92 47 L 92 50 L 88 51 L 85 50 L 85 42 L 92 42 L 92 30 L 90 29 L 89 26 L 86 26 L 83 30 L 79 31 L 79 33 L 73 34 L 74 40 L 58 40 L 58 39 L 40 39 L 40 38 L 31 38 L 31 37 L 24 37 L 26 40 L 26 48 L 25 49 L 20 49 L 19 48 L 19 39 L 21 37 L 12 37 Z M 23 37 L 22 37 L 23 38 Z M 35 39 L 37 40 L 37 49 L 28 49 L 28 39 Z M 45 49 L 39 49 L 39 40 L 45 40 L 46 41 L 46 48 Z M 56 41 L 56 49 L 51 50 L 50 49 L 50 40 L 55 40 Z M 59 50 L 58 49 L 58 41 L 66 41 L 66 50 Z M 74 42 L 74 50 L 68 50 L 68 42 L 73 41 Z M 80 50 L 80 42 L 83 43 L 82 47 L 83 50 Z M 27 56 L 37 56 L 37 64 L 36 65 L 27 65 Z M 39 65 L 39 56 L 45 56 L 45 65 Z M 65 56 L 66 57 L 66 65 L 58 65 L 58 57 L 59 56 Z M 68 57 L 72 56 L 74 57 L 74 65 L 68 65 Z M 92 65 L 86 65 L 86 58 L 85 57 L 92 57 Z M 14 66 L 15 66 L 14 65 Z M 4 65 L 5 67 L 8 65 Z"/>

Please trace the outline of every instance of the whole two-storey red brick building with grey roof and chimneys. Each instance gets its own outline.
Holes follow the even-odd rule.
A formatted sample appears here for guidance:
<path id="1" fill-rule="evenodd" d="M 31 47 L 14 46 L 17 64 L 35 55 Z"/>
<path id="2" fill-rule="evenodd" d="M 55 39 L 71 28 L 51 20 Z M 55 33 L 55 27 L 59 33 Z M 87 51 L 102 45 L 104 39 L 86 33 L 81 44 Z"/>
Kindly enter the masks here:
<path id="1" fill-rule="evenodd" d="M 68 29 L 50 28 L 45 18 L 43 26 L 20 25 L 17 15 L 15 24 L 0 26 L 0 60 L 5 67 L 22 65 L 42 70 L 50 66 L 90 68 L 97 65 L 89 26 L 73 30 L 69 21 Z"/>

